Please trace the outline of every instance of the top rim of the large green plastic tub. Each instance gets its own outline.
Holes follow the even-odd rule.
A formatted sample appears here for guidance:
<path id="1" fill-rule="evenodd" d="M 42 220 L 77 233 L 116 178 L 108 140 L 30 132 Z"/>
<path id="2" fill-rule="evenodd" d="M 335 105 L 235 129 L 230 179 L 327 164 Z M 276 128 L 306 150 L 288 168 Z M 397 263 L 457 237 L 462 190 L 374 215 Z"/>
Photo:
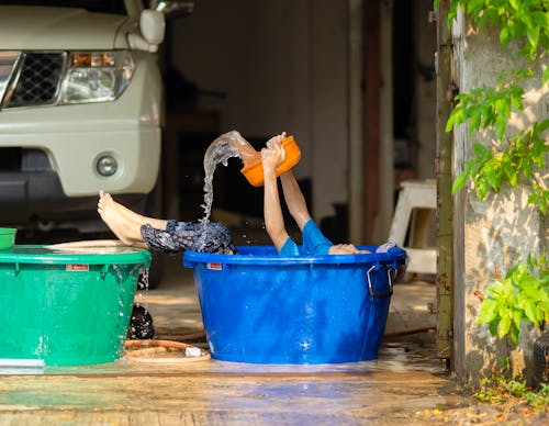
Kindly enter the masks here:
<path id="1" fill-rule="evenodd" d="M 109 253 L 101 253 L 105 247 L 81 250 L 55 249 L 47 245 L 15 245 L 12 249 L 0 250 L 0 264 L 87 264 L 87 265 L 133 265 L 150 264 L 150 253 L 143 248 L 116 246 L 109 247 Z"/>

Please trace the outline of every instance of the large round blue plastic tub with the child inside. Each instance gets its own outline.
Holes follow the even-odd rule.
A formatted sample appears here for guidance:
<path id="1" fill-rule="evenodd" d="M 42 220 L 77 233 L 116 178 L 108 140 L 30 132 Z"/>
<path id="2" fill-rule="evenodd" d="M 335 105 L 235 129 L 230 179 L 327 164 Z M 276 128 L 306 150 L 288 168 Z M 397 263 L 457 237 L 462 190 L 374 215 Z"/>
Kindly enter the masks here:
<path id="1" fill-rule="evenodd" d="M 362 247 L 371 251 L 376 247 Z M 187 251 L 212 357 L 254 363 L 376 359 L 406 253 L 280 257 Z"/>

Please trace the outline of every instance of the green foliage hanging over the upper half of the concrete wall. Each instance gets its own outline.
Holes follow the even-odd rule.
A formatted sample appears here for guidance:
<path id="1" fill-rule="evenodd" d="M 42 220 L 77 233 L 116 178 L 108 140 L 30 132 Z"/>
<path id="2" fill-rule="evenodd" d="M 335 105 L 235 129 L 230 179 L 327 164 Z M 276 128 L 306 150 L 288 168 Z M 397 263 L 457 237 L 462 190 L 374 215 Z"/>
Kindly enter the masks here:
<path id="1" fill-rule="evenodd" d="M 438 8 L 440 0 L 435 0 Z M 511 40 L 522 41 L 530 66 L 540 63 L 549 47 L 549 0 L 450 0 L 448 22 L 461 8 L 479 30 L 488 24 L 500 27 L 500 42 L 506 47 Z M 513 109 L 523 111 L 524 89 L 519 82 L 535 77 L 531 68 L 519 68 L 502 74 L 496 87 L 482 86 L 455 98 L 446 131 L 469 123 L 469 134 L 493 128 L 495 141 L 492 148 L 474 144 L 475 157 L 467 161 L 464 170 L 456 178 L 452 192 L 462 189 L 471 180 L 477 195 L 482 200 L 503 183 L 517 187 L 519 178 L 529 181 L 533 189 L 528 204 L 547 214 L 549 191 L 540 177 L 549 152 L 546 141 L 549 120 L 533 124 L 515 136 L 507 136 L 507 122 Z M 544 71 L 540 85 L 549 81 L 549 67 Z"/>

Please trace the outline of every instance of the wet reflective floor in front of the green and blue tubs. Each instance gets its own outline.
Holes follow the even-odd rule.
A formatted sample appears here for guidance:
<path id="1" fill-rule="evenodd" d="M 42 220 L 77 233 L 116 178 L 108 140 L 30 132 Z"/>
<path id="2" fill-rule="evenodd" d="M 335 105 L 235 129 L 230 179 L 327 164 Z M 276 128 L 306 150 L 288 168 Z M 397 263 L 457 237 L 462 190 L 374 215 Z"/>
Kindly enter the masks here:
<path id="1" fill-rule="evenodd" d="M 200 345 L 200 344 L 199 344 Z M 3 370 L 0 424 L 393 424 L 470 400 L 435 359 L 430 333 L 383 344 L 376 361 L 265 366 L 216 360 Z M 26 371 L 22 371 L 26 370 Z"/>

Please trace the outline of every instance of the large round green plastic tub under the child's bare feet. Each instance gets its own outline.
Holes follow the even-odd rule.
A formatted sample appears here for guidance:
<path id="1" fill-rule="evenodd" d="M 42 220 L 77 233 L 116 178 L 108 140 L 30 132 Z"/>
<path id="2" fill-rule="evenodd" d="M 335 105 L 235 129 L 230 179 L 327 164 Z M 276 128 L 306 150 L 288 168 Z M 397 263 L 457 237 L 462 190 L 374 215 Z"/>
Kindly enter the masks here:
<path id="1" fill-rule="evenodd" d="M 139 270 L 131 247 L 0 251 L 0 366 L 77 366 L 122 355 Z"/>

